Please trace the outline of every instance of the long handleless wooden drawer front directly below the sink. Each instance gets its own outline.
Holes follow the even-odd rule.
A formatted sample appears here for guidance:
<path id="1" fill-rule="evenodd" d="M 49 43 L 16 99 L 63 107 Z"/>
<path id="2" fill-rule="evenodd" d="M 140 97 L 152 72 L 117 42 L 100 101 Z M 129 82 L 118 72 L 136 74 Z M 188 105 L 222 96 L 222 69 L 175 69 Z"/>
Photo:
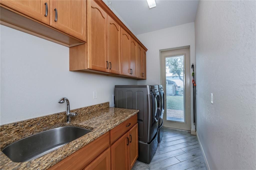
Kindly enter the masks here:
<path id="1" fill-rule="evenodd" d="M 49 169 L 82 169 L 110 146 L 109 136 L 110 132 L 108 131 Z"/>

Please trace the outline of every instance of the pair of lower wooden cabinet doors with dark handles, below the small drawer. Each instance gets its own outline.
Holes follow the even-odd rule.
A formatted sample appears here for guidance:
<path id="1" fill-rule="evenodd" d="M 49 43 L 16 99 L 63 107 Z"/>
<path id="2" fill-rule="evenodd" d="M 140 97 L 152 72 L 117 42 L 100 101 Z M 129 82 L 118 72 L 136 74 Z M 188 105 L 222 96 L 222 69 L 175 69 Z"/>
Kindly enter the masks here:
<path id="1" fill-rule="evenodd" d="M 111 169 L 131 169 L 138 158 L 138 123 L 111 145 Z"/>

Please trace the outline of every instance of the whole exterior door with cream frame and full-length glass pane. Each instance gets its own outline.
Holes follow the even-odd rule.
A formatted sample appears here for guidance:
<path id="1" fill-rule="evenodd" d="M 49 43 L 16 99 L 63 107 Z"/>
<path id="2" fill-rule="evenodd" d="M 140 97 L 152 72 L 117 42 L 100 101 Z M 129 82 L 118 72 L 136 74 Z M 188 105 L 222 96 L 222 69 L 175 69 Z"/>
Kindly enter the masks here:
<path id="1" fill-rule="evenodd" d="M 164 126 L 191 129 L 189 48 L 161 52 Z"/>

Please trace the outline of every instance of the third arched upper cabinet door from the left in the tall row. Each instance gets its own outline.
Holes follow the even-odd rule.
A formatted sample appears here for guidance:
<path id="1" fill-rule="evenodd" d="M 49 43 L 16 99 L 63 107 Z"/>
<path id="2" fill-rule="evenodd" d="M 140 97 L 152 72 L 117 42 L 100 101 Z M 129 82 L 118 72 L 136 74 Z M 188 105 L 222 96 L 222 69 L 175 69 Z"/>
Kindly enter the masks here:
<path id="1" fill-rule="evenodd" d="M 129 67 L 130 35 L 121 28 L 121 74 L 131 76 Z"/>

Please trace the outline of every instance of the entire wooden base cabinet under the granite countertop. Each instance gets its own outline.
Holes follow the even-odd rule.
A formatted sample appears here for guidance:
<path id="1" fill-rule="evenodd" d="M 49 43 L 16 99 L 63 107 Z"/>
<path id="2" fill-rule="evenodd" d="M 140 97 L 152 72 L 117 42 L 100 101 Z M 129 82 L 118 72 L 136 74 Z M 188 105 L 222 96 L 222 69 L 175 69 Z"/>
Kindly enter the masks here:
<path id="1" fill-rule="evenodd" d="M 137 158 L 136 114 L 49 169 L 130 170 Z"/>

